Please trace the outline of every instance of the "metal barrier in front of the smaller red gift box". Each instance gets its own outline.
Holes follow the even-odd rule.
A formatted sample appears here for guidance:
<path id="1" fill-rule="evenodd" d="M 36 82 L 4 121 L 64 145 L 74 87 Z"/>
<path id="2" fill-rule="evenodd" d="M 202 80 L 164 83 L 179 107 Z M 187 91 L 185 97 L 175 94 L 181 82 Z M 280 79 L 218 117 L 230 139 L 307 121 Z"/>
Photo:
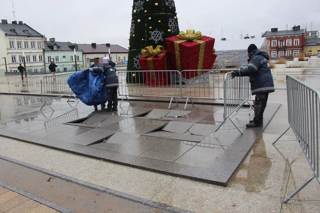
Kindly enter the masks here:
<path id="1" fill-rule="evenodd" d="M 130 103 L 128 96 L 166 97 L 171 98 L 169 109 L 173 100 L 178 106 L 176 98 L 181 97 L 180 78 L 179 71 L 120 71 L 118 94 L 123 96 L 120 106 L 124 98 Z"/>

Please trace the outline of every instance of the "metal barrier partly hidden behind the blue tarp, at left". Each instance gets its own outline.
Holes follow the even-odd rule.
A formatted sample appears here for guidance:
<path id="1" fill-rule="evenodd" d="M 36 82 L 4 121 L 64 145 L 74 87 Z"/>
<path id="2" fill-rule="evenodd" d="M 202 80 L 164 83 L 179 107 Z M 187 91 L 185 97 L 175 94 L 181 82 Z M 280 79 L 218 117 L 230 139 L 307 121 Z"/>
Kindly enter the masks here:
<path id="1" fill-rule="evenodd" d="M 69 96 L 67 102 L 72 96 L 79 102 L 79 100 L 76 98 L 67 82 L 68 78 L 72 74 L 73 73 L 50 75 L 41 78 L 41 101 L 43 102 L 43 105 L 40 110 L 42 110 L 46 103 L 52 109 L 48 101 L 63 96 Z M 52 109 L 52 111 L 54 110 Z"/>

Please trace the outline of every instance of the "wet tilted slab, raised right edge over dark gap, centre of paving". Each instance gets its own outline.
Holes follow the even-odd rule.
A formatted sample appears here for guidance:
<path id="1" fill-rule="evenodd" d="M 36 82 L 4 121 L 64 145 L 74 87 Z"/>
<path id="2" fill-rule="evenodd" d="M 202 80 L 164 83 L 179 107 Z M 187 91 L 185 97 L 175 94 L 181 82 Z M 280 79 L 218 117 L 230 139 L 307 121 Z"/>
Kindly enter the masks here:
<path id="1" fill-rule="evenodd" d="M 125 133 L 134 133 L 134 134 L 146 134 L 146 133 L 152 133 L 158 129 L 161 129 L 166 124 L 168 124 L 167 121 L 159 121 L 159 120 L 146 120 L 142 123 L 139 123 L 135 126 L 131 126 L 127 129 L 122 130 L 121 132 Z"/>

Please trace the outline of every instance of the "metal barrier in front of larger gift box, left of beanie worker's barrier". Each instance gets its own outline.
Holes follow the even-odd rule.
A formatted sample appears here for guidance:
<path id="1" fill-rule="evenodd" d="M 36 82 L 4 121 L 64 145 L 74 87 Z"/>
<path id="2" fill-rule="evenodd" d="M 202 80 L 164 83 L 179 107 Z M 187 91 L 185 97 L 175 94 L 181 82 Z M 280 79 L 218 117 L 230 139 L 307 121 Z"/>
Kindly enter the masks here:
<path id="1" fill-rule="evenodd" d="M 224 74 L 220 74 L 220 72 L 230 71 L 231 70 L 181 71 L 181 98 L 187 98 L 184 110 L 186 110 L 189 100 L 192 106 L 195 106 L 192 99 L 212 99 L 212 101 L 214 101 L 214 99 L 223 100 L 223 94 L 220 92 L 223 92 Z"/>

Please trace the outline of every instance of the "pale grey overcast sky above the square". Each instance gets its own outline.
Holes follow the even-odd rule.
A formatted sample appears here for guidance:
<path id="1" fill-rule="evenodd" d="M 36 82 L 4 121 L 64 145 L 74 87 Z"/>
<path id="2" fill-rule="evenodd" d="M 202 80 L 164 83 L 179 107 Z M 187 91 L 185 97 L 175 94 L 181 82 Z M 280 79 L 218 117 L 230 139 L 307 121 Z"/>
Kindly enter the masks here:
<path id="1" fill-rule="evenodd" d="M 156 0 L 150 0 L 156 2 Z M 23 21 L 59 42 L 111 43 L 127 48 L 132 0 L 13 0 L 15 20 Z M 320 0 L 176 0 L 180 30 L 192 25 L 196 31 L 216 39 L 261 36 L 278 27 L 301 25 L 320 29 Z M 12 0 L 0 0 L 0 19 L 13 21 Z"/>

